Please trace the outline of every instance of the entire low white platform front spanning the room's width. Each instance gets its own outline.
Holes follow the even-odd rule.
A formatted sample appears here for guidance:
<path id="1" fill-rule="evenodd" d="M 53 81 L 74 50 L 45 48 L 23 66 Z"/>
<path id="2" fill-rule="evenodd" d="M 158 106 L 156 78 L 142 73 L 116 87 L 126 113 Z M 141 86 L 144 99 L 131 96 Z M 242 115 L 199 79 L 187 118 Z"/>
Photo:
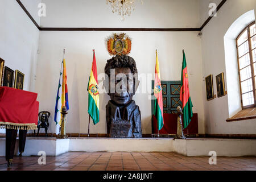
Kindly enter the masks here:
<path id="1" fill-rule="evenodd" d="M 207 138 L 43 138 L 27 137 L 23 156 L 47 156 L 73 152 L 176 152 L 185 156 L 256 156 L 256 140 L 253 139 L 207 139 Z M 18 155 L 18 140 L 15 147 Z M 0 138 L 0 156 L 5 156 L 5 138 Z"/>

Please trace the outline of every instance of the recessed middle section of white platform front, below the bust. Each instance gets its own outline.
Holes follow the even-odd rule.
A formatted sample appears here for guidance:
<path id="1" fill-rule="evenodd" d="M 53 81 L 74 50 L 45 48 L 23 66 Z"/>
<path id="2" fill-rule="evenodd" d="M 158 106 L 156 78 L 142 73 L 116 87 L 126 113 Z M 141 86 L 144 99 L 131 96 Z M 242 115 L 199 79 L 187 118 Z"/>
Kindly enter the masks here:
<path id="1" fill-rule="evenodd" d="M 83 152 L 172 152 L 168 138 L 71 138 L 69 151 Z"/>

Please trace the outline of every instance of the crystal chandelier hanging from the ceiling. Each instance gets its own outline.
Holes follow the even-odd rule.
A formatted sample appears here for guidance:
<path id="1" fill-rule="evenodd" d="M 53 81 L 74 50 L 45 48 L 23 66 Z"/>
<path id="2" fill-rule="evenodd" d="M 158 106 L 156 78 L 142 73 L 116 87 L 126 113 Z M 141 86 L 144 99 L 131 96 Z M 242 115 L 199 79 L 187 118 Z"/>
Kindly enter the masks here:
<path id="1" fill-rule="evenodd" d="M 125 15 L 130 16 L 131 11 L 135 9 L 135 2 L 137 0 L 106 0 L 106 3 L 111 4 L 112 12 L 121 16 L 121 20 L 125 20 Z M 141 0 L 141 3 L 143 4 L 143 0 Z"/>

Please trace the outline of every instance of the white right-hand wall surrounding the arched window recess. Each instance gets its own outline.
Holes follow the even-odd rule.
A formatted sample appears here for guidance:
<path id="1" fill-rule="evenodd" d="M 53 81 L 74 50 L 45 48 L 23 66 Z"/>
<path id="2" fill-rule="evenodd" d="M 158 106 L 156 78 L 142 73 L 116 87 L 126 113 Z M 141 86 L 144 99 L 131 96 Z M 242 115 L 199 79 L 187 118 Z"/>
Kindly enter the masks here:
<path id="1" fill-rule="evenodd" d="M 203 0 L 202 0 L 203 1 Z M 226 1 L 218 11 L 217 17 L 203 29 L 202 56 L 203 75 L 213 74 L 214 94 L 217 93 L 215 76 L 221 72 L 225 73 L 229 65 L 225 64 L 224 36 L 232 23 L 247 11 L 256 10 L 254 0 L 232 0 Z M 204 11 L 208 12 L 208 9 Z M 225 82 L 226 85 L 226 82 Z M 205 133 L 207 134 L 255 134 L 256 119 L 226 122 L 229 118 L 228 96 L 207 101 L 204 91 L 205 108 Z"/>

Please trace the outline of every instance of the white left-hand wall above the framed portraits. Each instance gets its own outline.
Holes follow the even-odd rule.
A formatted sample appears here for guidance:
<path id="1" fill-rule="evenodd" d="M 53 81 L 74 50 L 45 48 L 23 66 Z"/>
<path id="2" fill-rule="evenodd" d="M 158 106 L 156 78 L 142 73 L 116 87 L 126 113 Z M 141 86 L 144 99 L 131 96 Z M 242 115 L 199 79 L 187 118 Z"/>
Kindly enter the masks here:
<path id="1" fill-rule="evenodd" d="M 34 1 L 36 4 L 39 0 Z M 25 3 L 26 5 L 26 3 Z M 0 57 L 25 74 L 24 90 L 34 91 L 39 30 L 16 1 L 0 1 Z M 0 132 L 5 130 L 0 130 Z"/>

